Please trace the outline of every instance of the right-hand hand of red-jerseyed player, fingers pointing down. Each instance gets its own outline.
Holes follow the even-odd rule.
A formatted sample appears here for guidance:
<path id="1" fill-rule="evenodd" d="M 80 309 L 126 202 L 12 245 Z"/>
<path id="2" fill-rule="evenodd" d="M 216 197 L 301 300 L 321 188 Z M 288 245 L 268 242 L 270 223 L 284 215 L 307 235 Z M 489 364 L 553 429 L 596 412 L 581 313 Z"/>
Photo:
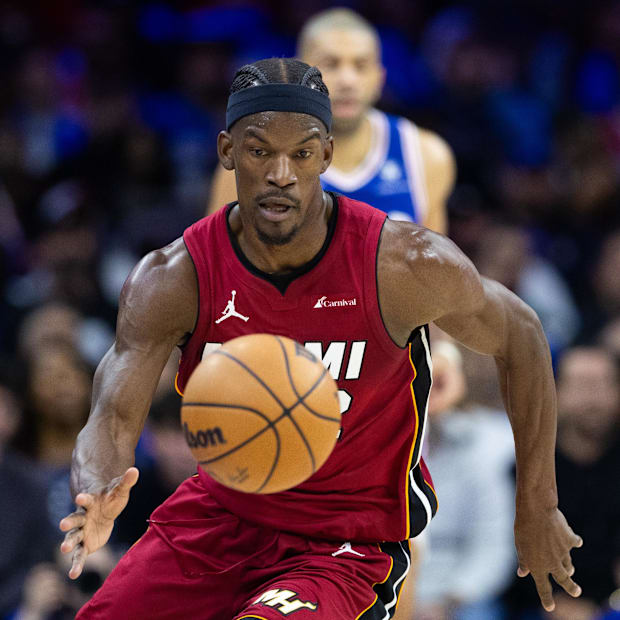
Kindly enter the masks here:
<path id="1" fill-rule="evenodd" d="M 540 602 L 546 611 L 555 608 L 549 575 L 571 596 L 581 594 L 581 588 L 571 579 L 575 569 L 570 550 L 581 547 L 583 541 L 573 532 L 557 508 L 529 511 L 518 508 L 515 544 L 519 559 L 517 575 L 532 575 Z"/>

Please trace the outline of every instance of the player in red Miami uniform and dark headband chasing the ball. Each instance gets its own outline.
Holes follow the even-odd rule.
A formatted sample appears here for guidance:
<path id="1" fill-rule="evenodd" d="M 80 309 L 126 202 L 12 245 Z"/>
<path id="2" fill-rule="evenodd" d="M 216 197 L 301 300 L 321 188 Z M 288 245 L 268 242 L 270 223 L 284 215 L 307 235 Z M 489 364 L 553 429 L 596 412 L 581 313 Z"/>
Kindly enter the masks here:
<path id="1" fill-rule="evenodd" d="M 549 575 L 578 596 L 570 550 L 581 539 L 557 509 L 555 390 L 534 312 L 445 237 L 323 191 L 333 139 L 318 69 L 259 61 L 231 93 L 218 153 L 239 202 L 148 254 L 125 283 L 74 452 L 77 510 L 60 524 L 70 577 L 129 499 L 134 448 L 175 346 L 183 391 L 216 343 L 254 332 L 318 343 L 342 391 L 341 438 L 316 474 L 281 493 L 240 493 L 199 469 L 78 618 L 392 617 L 410 564 L 403 541 L 437 508 L 420 458 L 430 321 L 497 360 L 516 445 L 519 573 L 534 577 L 545 609 Z"/>

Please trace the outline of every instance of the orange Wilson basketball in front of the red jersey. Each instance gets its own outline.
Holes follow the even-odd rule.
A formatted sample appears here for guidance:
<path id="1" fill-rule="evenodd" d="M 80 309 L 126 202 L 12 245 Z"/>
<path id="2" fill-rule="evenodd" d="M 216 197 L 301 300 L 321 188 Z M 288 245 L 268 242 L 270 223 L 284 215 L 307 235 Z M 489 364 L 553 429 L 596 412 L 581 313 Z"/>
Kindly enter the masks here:
<path id="1" fill-rule="evenodd" d="M 246 493 L 276 493 L 307 480 L 340 431 L 338 387 L 305 347 L 252 334 L 205 356 L 183 395 L 181 424 L 199 465 Z"/>

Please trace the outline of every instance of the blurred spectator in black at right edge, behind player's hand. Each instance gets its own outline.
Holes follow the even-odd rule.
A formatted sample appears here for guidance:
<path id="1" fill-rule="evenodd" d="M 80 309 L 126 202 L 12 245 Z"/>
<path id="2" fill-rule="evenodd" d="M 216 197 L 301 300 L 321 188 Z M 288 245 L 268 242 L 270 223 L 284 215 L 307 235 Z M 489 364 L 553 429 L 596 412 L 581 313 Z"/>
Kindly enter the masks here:
<path id="1" fill-rule="evenodd" d="M 560 361 L 557 386 L 559 507 L 584 545 L 573 554 L 574 579 L 583 594 L 572 599 L 558 592 L 554 617 L 598 620 L 620 587 L 616 574 L 620 561 L 617 361 L 599 347 L 570 349 Z M 519 580 L 511 591 L 510 605 L 519 618 L 538 613 L 536 594 L 528 585 Z"/>

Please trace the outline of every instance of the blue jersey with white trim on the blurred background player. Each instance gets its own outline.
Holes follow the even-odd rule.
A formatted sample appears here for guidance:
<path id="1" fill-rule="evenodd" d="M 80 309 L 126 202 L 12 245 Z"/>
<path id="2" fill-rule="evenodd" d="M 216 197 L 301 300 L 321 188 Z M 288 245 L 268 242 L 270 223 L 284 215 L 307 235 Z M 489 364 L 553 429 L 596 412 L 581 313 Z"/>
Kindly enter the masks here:
<path id="1" fill-rule="evenodd" d="M 323 189 L 370 204 L 390 219 L 423 223 L 428 198 L 418 128 L 375 109 L 368 120 L 372 139 L 366 157 L 351 172 L 328 168 L 321 175 Z"/>

